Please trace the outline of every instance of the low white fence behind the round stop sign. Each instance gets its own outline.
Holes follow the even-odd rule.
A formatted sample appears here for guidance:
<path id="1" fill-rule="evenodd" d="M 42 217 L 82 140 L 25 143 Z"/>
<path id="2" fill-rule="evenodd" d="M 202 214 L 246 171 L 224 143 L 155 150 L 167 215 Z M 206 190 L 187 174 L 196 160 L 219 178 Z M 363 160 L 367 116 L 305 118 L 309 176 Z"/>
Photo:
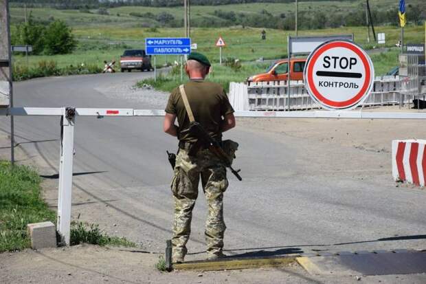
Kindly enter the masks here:
<path id="1" fill-rule="evenodd" d="M 287 81 L 230 83 L 229 101 L 237 111 L 292 111 L 319 109 L 309 96 L 302 80 L 291 80 L 290 97 Z M 372 93 L 364 106 L 410 103 L 418 93 L 418 78 L 376 77 Z"/>

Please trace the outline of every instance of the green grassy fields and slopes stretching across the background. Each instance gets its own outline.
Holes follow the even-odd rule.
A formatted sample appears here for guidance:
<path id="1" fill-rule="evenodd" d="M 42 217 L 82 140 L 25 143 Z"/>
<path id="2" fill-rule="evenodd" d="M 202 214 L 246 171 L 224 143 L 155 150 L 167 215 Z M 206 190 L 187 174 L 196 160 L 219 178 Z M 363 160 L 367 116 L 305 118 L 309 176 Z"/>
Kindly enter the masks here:
<path id="1" fill-rule="evenodd" d="M 317 11 L 334 14 L 357 10 L 363 5 L 363 0 L 353 1 L 306 1 L 299 3 L 301 12 L 309 14 Z M 421 5 L 423 0 L 411 0 L 410 5 Z M 370 3 L 373 9 L 389 9 L 397 6 L 396 0 L 375 0 Z M 197 20 L 203 17 L 215 17 L 214 10 L 234 11 L 245 13 L 247 17 L 251 13 L 260 12 L 265 9 L 271 14 L 278 15 L 282 12 L 288 14 L 294 10 L 293 3 L 243 3 L 225 6 L 192 6 L 192 19 Z M 55 56 L 29 56 L 29 67 L 35 67 L 40 61 L 55 61 L 59 68 L 70 65 L 96 65 L 104 67 L 104 61 L 115 61 L 116 69 L 120 69 L 120 55 L 127 48 L 144 48 L 146 37 L 179 37 L 184 36 L 183 28 L 142 28 L 143 26 L 159 25 L 153 19 L 133 17 L 131 12 L 144 14 L 151 12 L 159 14 L 169 12 L 175 19 L 180 20 L 183 14 L 182 7 L 174 8 L 153 8 L 153 7 L 120 7 L 109 9 L 110 15 L 100 15 L 96 13 L 83 13 L 78 10 L 56 10 L 52 8 L 34 8 L 32 11 L 34 19 L 38 21 L 49 21 L 61 19 L 68 23 L 73 29 L 79 46 L 72 54 Z M 92 10 L 92 12 L 96 12 Z M 23 8 L 11 8 L 12 23 L 23 21 Z M 118 16 L 119 14 L 120 16 Z M 301 13 L 302 17 L 302 13 Z M 13 32 L 12 25 L 12 32 Z M 229 28 L 192 28 L 192 43 L 198 44 L 198 52 L 208 56 L 210 61 L 218 63 L 219 50 L 214 46 L 218 36 L 222 36 L 227 46 L 223 48 L 224 58 L 238 58 L 240 61 L 254 61 L 260 57 L 265 59 L 284 58 L 287 56 L 287 36 L 294 35 L 289 30 L 267 29 L 267 40 L 262 41 L 260 32 L 262 28 L 249 28 L 234 26 Z M 399 41 L 401 29 L 391 25 L 381 25 L 375 27 L 376 33 L 386 34 L 385 45 L 367 43 L 366 27 L 341 27 L 328 28 L 323 30 L 300 30 L 300 36 L 318 34 L 354 34 L 355 41 L 366 49 L 373 47 L 394 47 Z M 423 43 L 425 41 L 425 31 L 423 25 L 412 25 L 405 27 L 405 43 Z M 392 62 L 394 55 L 390 54 Z M 157 65 L 173 63 L 179 61 L 178 56 L 157 56 Z M 25 56 L 14 54 L 14 63 L 19 66 L 26 66 Z M 374 63 L 376 64 L 376 63 Z M 395 65 L 395 64 L 394 64 Z M 377 74 L 384 70 L 386 64 L 377 65 Z M 245 75 L 244 75 L 245 76 Z"/>

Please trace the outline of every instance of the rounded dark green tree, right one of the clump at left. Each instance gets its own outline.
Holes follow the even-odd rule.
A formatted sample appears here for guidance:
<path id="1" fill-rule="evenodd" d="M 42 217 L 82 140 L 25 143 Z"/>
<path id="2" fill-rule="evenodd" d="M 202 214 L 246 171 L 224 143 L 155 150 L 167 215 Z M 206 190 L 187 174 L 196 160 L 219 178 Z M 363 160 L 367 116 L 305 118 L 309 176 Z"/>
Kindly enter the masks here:
<path id="1" fill-rule="evenodd" d="M 71 29 L 63 21 L 56 20 L 49 24 L 45 32 L 45 53 L 67 54 L 77 46 Z"/>

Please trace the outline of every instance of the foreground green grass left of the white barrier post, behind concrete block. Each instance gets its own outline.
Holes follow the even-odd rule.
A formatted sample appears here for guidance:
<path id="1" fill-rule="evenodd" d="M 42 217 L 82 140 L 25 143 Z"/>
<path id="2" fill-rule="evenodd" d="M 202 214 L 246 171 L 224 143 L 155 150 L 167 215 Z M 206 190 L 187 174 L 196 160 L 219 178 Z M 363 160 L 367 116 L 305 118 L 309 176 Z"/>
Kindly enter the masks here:
<path id="1" fill-rule="evenodd" d="M 0 162 L 0 252 L 30 247 L 27 224 L 56 219 L 41 197 L 41 178 L 33 168 Z"/>

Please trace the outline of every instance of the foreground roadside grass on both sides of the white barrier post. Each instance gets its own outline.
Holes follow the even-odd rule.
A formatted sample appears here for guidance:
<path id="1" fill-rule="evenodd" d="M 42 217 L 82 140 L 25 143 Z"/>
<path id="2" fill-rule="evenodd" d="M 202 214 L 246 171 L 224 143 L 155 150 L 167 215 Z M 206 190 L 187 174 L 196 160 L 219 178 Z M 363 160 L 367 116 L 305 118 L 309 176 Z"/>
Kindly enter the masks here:
<path id="1" fill-rule="evenodd" d="M 41 195 L 41 177 L 28 166 L 14 166 L 0 161 L 0 252 L 30 248 L 27 224 L 56 220 Z M 109 237 L 98 225 L 73 222 L 71 245 L 91 243 L 135 247 L 124 237 Z"/>

